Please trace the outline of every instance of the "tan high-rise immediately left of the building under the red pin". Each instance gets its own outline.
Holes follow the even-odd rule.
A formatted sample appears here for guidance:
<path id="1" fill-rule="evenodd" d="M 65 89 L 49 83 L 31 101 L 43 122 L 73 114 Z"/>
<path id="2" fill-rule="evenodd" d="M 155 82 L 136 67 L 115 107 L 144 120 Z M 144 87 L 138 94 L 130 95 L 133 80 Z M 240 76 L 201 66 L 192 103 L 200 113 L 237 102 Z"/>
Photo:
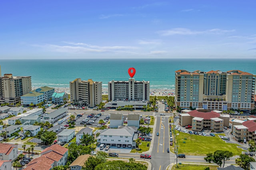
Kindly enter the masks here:
<path id="1" fill-rule="evenodd" d="M 84 104 L 89 107 L 95 107 L 102 102 L 102 82 L 94 82 L 92 79 L 86 81 L 76 78 L 69 84 L 71 102 Z"/>

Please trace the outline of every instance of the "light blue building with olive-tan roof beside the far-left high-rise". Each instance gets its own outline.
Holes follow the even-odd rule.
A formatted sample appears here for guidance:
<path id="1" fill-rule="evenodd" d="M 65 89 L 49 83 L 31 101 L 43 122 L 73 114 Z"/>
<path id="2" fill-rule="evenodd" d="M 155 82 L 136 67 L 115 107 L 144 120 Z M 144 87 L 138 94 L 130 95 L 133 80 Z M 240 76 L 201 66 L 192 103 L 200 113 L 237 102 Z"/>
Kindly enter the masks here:
<path id="1" fill-rule="evenodd" d="M 44 94 L 38 92 L 29 92 L 20 96 L 21 104 L 24 106 L 29 106 L 30 104 L 39 104 L 44 102 Z"/>

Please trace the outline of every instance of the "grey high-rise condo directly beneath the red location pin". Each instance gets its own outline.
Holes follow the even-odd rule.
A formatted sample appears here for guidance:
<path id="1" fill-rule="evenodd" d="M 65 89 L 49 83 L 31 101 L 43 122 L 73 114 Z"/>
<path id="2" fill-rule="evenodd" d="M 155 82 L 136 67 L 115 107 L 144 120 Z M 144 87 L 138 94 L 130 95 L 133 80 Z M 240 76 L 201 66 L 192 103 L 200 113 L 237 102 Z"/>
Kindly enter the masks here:
<path id="1" fill-rule="evenodd" d="M 108 82 L 108 100 L 149 100 L 149 81 L 135 81 L 129 78 L 128 81 Z"/>

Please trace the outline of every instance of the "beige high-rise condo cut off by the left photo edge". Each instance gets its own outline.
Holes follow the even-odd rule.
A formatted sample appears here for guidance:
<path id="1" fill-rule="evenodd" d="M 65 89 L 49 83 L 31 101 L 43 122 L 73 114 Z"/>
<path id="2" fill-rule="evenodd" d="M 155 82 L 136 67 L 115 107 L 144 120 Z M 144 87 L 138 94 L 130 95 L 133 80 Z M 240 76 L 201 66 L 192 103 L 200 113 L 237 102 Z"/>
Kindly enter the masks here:
<path id="1" fill-rule="evenodd" d="M 20 102 L 20 96 L 31 91 L 31 76 L 0 76 L 0 104 Z"/>

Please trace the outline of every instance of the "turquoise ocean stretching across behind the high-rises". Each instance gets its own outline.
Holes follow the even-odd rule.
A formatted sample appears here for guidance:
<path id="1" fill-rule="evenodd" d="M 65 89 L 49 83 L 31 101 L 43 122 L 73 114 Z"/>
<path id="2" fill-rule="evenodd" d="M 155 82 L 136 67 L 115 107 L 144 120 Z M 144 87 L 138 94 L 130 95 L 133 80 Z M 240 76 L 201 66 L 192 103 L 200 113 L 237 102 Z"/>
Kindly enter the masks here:
<path id="1" fill-rule="evenodd" d="M 52 59 L 0 60 L 2 76 L 31 76 L 32 86 L 69 88 L 81 78 L 101 81 L 128 80 L 128 69 L 136 69 L 135 80 L 150 81 L 152 89 L 174 89 L 175 71 L 241 70 L 256 74 L 256 59 Z"/>

